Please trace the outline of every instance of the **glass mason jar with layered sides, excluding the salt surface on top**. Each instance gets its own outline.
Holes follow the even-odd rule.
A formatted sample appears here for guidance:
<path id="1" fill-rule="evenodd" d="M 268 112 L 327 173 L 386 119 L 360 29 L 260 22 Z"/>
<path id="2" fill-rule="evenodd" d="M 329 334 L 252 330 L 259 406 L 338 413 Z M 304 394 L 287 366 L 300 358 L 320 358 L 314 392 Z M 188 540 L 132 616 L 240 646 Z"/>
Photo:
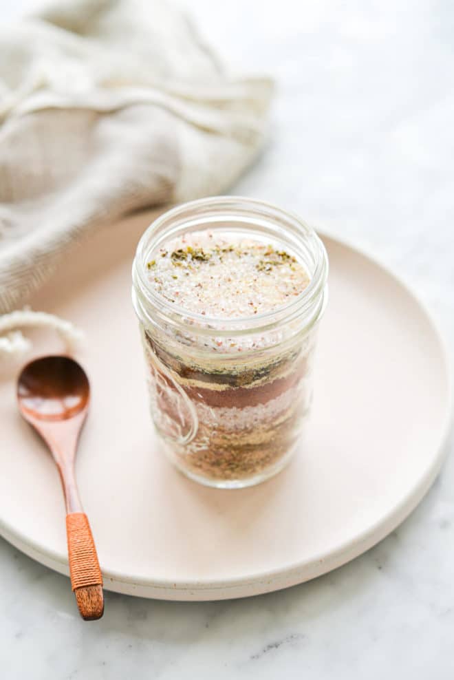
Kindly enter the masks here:
<path id="1" fill-rule="evenodd" d="M 288 304 L 250 317 L 209 318 L 177 306 L 150 285 L 147 263 L 166 242 L 205 229 L 285 249 L 303 264 L 310 283 Z M 133 262 L 133 306 L 151 416 L 162 448 L 186 476 L 213 487 L 246 487 L 288 463 L 312 402 L 327 270 L 313 229 L 248 198 L 186 203 L 145 231 Z"/>

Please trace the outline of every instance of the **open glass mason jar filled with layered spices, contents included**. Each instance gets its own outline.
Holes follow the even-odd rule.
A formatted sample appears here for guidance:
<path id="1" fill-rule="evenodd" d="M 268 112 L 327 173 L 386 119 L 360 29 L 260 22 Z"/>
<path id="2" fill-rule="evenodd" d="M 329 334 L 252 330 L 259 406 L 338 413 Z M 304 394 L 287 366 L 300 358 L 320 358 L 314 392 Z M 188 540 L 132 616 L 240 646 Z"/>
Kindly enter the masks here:
<path id="1" fill-rule="evenodd" d="M 312 402 L 327 269 L 313 229 L 248 198 L 183 204 L 145 231 L 133 305 L 151 416 L 186 476 L 239 488 L 288 463 Z"/>

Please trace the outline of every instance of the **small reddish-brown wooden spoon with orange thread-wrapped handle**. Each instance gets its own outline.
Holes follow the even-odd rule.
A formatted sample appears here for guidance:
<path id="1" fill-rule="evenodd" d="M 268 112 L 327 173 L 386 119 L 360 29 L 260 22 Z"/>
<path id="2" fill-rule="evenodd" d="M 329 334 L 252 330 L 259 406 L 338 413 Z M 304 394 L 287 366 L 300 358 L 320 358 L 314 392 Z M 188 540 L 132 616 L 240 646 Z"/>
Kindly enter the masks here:
<path id="1" fill-rule="evenodd" d="M 25 366 L 17 381 L 19 410 L 54 456 L 66 504 L 71 585 L 85 621 L 104 612 L 102 575 L 88 518 L 74 475 L 80 430 L 87 416 L 90 386 L 81 366 L 69 357 L 43 357 Z"/>

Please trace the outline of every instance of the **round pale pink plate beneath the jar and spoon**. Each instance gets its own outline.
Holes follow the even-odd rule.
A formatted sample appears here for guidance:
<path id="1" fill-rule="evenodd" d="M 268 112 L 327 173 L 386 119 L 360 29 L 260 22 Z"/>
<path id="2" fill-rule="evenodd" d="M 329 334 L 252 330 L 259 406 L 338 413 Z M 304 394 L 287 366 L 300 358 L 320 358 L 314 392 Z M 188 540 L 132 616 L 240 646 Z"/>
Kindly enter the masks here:
<path id="1" fill-rule="evenodd" d="M 402 522 L 440 470 L 451 400 L 431 319 L 391 273 L 325 238 L 330 300 L 307 448 L 258 487 L 201 487 L 166 462 L 148 413 L 131 261 L 150 220 L 99 232 L 32 302 L 87 335 L 77 359 L 93 399 L 77 473 L 105 587 L 162 599 L 243 597 L 352 560 Z M 62 349 L 51 336 L 39 342 L 35 354 Z M 0 379 L 0 532 L 67 573 L 60 483 L 17 412 L 18 371 L 3 368 Z"/>

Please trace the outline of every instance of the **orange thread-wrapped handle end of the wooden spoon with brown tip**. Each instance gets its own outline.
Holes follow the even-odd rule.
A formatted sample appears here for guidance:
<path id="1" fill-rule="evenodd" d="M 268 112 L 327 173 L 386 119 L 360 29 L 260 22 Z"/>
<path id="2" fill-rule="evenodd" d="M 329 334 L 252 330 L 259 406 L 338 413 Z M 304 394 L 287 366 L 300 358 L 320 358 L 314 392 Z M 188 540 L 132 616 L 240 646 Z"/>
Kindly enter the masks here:
<path id="1" fill-rule="evenodd" d="M 69 574 L 80 615 L 85 621 L 100 619 L 104 613 L 102 575 L 89 521 L 85 513 L 66 516 Z"/>

